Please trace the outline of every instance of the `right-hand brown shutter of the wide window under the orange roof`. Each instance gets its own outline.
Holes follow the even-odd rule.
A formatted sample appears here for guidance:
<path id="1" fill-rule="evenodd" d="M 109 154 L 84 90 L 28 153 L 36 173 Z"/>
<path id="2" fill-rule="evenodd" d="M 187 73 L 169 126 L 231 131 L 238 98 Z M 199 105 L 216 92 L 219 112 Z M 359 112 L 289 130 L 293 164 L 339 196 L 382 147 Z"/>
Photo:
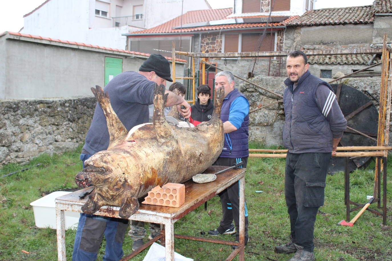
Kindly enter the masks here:
<path id="1" fill-rule="evenodd" d="M 274 34 L 265 34 L 260 45 L 261 34 L 242 34 L 241 52 L 269 52 L 275 47 Z M 258 48 L 260 45 L 260 48 Z M 265 58 L 265 57 L 263 57 Z"/>

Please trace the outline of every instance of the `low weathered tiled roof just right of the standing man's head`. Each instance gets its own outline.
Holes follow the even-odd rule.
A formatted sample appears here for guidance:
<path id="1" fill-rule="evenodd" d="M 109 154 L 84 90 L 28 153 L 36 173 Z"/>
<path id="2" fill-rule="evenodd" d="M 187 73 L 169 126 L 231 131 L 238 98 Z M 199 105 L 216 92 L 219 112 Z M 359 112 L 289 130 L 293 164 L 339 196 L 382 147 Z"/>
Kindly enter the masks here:
<path id="1" fill-rule="evenodd" d="M 350 48 L 363 48 L 364 46 L 352 46 Z M 348 48 L 348 47 L 346 47 Z M 304 51 L 306 50 L 325 50 L 325 49 L 343 49 L 341 46 L 335 47 L 325 47 L 325 46 L 314 46 L 305 45 Z M 358 65 L 368 65 L 369 61 L 372 59 L 373 54 L 344 54 L 344 55 L 309 55 L 308 62 L 310 64 L 358 64 Z M 372 64 L 379 63 L 381 57 L 379 55 L 374 58 Z"/>

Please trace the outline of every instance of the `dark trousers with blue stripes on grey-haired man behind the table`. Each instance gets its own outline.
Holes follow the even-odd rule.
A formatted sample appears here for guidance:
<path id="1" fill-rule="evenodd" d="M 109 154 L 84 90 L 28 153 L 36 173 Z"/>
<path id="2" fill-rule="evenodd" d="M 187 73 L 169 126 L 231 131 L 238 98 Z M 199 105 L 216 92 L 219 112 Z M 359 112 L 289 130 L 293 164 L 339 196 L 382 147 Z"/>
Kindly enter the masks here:
<path id="1" fill-rule="evenodd" d="M 231 167 L 234 164 L 243 161 L 241 167 L 246 167 L 248 158 L 222 158 L 219 157 L 214 164 L 217 166 L 227 166 Z M 221 173 L 218 175 L 225 175 Z M 220 201 L 222 204 L 222 220 L 220 221 L 219 227 L 216 229 L 218 232 L 223 233 L 225 230 L 229 229 L 231 223 L 234 219 L 234 224 L 236 225 L 236 241 L 240 239 L 240 181 L 234 183 L 227 189 L 219 193 Z M 248 242 L 248 210 L 245 202 L 245 242 Z"/>

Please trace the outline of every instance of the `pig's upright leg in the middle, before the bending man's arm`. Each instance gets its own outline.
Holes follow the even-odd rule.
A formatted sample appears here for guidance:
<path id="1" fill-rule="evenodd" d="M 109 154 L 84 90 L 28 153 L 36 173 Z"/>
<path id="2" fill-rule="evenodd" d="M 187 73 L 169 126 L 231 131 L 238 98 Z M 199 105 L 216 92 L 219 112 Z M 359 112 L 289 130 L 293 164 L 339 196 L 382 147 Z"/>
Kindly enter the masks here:
<path id="1" fill-rule="evenodd" d="M 158 86 L 155 84 L 154 88 L 154 114 L 152 116 L 152 123 L 154 124 L 154 129 L 156 132 L 156 138 L 160 142 L 165 142 L 167 140 L 172 140 L 174 132 L 167 123 L 165 119 L 165 114 L 163 113 L 163 108 L 167 101 L 167 96 L 165 94 L 165 85 L 161 84 Z"/>

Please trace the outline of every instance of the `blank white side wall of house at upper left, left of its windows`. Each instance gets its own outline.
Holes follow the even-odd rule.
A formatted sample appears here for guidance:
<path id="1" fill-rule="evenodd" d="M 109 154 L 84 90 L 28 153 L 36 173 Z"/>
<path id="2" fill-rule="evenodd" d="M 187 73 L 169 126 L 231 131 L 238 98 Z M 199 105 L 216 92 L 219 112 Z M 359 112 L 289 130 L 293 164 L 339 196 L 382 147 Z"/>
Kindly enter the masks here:
<path id="1" fill-rule="evenodd" d="M 51 0 L 24 18 L 22 33 L 83 42 L 89 29 L 89 0 Z"/>

